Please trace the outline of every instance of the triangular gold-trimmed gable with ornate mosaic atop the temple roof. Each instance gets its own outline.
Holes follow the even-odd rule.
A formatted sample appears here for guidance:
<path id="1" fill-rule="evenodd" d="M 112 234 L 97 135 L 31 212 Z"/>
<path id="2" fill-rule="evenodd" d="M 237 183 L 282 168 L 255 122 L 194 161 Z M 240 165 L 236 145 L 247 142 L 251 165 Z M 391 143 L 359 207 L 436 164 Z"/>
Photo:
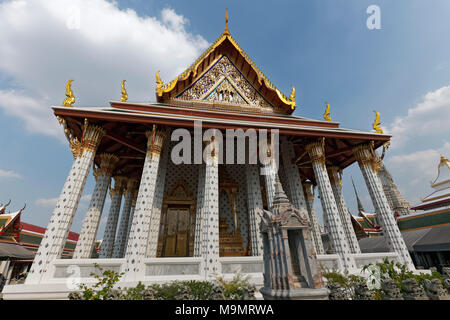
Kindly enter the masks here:
<path id="1" fill-rule="evenodd" d="M 158 72 L 156 84 L 156 98 L 161 103 L 189 101 L 190 105 L 221 109 L 239 106 L 243 110 L 282 114 L 291 114 L 296 107 L 294 87 L 289 97 L 281 93 L 233 39 L 227 24 L 220 37 L 189 68 L 166 84 Z"/>

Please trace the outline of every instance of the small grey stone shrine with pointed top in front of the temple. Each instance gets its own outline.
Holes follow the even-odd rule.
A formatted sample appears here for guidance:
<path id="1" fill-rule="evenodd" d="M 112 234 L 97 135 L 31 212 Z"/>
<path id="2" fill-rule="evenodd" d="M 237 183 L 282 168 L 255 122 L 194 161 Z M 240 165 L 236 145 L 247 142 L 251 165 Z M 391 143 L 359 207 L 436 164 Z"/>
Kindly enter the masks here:
<path id="1" fill-rule="evenodd" d="M 264 244 L 264 299 L 327 300 L 308 217 L 296 209 L 275 182 L 271 211 L 259 210 Z"/>

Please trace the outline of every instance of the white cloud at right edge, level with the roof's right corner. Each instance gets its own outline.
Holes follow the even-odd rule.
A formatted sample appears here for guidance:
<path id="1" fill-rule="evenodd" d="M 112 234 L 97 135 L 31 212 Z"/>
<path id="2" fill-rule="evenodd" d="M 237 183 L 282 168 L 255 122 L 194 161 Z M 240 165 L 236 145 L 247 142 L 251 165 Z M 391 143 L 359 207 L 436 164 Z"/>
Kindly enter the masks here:
<path id="1" fill-rule="evenodd" d="M 445 135 L 450 132 L 450 86 L 427 93 L 423 101 L 397 117 L 387 127 L 392 134 L 392 148 L 400 148 L 415 137 Z"/>

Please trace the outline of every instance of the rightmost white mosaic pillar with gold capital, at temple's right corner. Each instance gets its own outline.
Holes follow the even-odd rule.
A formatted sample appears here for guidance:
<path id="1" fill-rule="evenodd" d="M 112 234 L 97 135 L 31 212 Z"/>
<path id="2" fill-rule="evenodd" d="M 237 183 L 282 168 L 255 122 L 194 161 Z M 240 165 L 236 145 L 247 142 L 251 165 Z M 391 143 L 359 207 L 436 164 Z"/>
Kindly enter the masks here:
<path id="1" fill-rule="evenodd" d="M 400 261 L 407 265 L 408 268 L 411 270 L 415 269 L 408 248 L 400 233 L 377 175 L 376 171 L 379 169 L 379 159 L 375 155 L 373 144 L 361 144 L 353 149 L 353 153 L 358 161 L 364 180 L 366 181 L 367 189 L 369 190 L 375 212 L 377 213 L 389 249 L 393 252 L 397 252 Z"/>

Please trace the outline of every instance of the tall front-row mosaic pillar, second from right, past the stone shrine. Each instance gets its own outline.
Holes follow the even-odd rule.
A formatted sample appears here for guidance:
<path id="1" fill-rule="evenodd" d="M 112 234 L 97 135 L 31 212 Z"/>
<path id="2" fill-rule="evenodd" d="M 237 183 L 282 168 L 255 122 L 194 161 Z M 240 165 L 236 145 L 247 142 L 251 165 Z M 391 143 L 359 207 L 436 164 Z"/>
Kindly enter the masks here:
<path id="1" fill-rule="evenodd" d="M 351 256 L 350 247 L 345 238 L 330 178 L 325 167 L 325 140 L 321 139 L 306 146 L 311 158 L 314 176 L 319 187 L 320 201 L 324 212 L 324 218 L 328 223 L 328 236 L 333 251 L 341 258 L 342 266 L 346 270 L 356 269 L 355 260 Z"/>

